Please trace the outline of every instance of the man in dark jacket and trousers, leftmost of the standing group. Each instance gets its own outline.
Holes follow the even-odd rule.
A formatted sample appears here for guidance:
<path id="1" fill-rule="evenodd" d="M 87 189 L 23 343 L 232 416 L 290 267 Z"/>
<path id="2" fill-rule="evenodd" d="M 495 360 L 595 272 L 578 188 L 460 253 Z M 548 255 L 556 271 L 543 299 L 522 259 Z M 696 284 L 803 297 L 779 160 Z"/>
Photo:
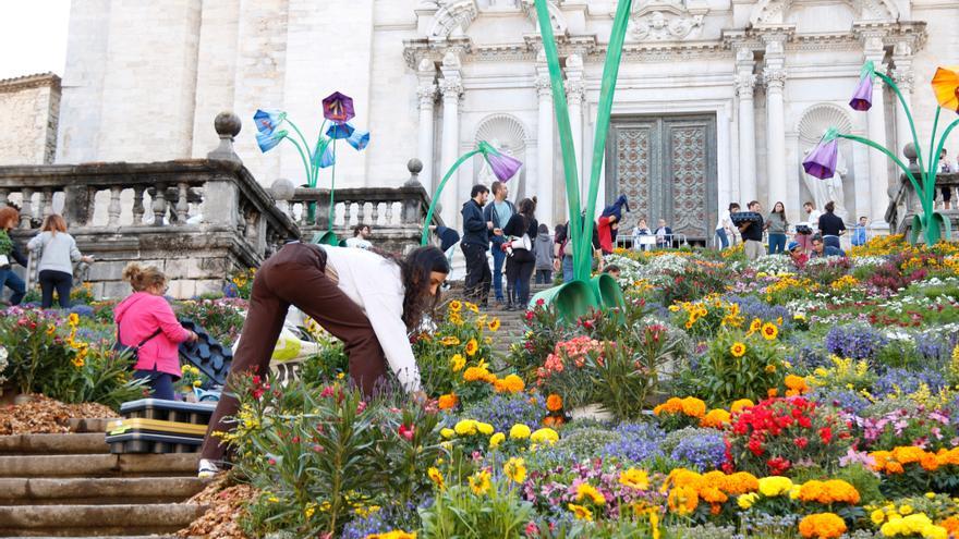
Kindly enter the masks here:
<path id="1" fill-rule="evenodd" d="M 476 184 L 470 192 L 470 199 L 463 205 L 463 238 L 460 247 L 466 258 L 466 298 L 481 307 L 486 307 L 489 298 L 489 262 L 486 252 L 489 250 L 489 233 L 502 235 L 502 230 L 494 228 L 491 222 L 483 218 L 483 206 L 489 198 L 489 189 Z"/>

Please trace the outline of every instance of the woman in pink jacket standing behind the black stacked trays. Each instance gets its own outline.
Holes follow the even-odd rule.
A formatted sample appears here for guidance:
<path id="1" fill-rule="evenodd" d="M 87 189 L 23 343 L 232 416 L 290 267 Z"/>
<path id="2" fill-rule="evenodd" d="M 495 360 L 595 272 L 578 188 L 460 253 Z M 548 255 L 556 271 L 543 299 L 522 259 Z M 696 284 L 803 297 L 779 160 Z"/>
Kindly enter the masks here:
<path id="1" fill-rule="evenodd" d="M 167 275 L 153 266 L 132 262 L 123 280 L 133 294 L 113 309 L 117 343 L 136 355 L 133 378 L 148 380 L 150 396 L 173 400 L 173 382 L 180 379 L 180 343 L 196 341 L 196 333 L 180 324 L 163 293 Z"/>

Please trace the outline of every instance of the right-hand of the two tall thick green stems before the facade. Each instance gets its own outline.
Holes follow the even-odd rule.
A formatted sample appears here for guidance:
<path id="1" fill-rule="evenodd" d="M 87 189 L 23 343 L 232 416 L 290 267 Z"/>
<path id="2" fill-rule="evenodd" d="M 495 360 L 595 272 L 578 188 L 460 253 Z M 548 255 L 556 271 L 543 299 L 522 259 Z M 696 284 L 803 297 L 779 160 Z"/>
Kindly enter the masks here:
<path id="1" fill-rule="evenodd" d="M 574 256 L 576 265 L 582 265 L 580 274 L 588 277 L 592 269 L 591 255 L 593 249 L 593 216 L 596 215 L 596 197 L 599 193 L 599 173 L 603 170 L 603 158 L 606 156 L 606 139 L 609 135 L 609 118 L 612 114 L 612 97 L 616 93 L 616 79 L 619 77 L 619 66 L 622 60 L 622 45 L 626 41 L 626 30 L 629 25 L 630 8 L 632 0 L 620 0 L 616 9 L 616 17 L 612 22 L 612 32 L 609 35 L 609 46 L 606 49 L 606 65 L 603 68 L 603 83 L 599 88 L 599 109 L 596 113 L 596 137 L 593 143 L 593 163 L 590 174 L 590 198 L 586 203 L 586 217 L 583 220 L 583 233 L 580 236 L 582 244 L 576 248 Z"/>

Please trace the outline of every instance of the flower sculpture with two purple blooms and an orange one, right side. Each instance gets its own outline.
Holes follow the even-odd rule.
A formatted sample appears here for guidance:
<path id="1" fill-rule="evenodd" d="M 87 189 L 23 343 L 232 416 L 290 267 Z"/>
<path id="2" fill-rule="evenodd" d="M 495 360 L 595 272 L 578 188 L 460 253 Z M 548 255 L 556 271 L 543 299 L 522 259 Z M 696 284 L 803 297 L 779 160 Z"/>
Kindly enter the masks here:
<path id="1" fill-rule="evenodd" d="M 909 235 L 910 243 L 915 244 L 919 241 L 920 234 L 922 234 L 926 245 L 933 245 L 942 238 L 943 230 L 945 230 L 946 240 L 948 240 L 951 236 L 949 219 L 935 211 L 934 205 L 936 195 L 936 173 L 938 172 L 938 159 L 936 159 L 936 156 L 942 154 L 949 134 L 957 125 L 959 125 L 959 120 L 954 120 L 948 126 L 946 126 L 943 135 L 938 139 L 938 144 L 936 144 L 936 135 L 939 124 L 939 114 L 943 109 L 959 112 L 959 68 L 939 68 L 936 70 L 936 74 L 932 81 L 933 93 L 939 106 L 936 108 L 936 115 L 933 121 L 933 133 L 930 139 L 927 166 L 923 158 L 919 137 L 915 134 L 915 123 L 912 120 L 912 111 L 909 108 L 909 105 L 902 97 L 902 93 L 899 91 L 899 87 L 896 85 L 895 81 L 885 73 L 877 72 L 873 62 L 866 62 L 862 66 L 860 83 L 852 96 L 852 100 L 849 101 L 849 106 L 854 110 L 860 111 L 869 110 L 870 107 L 872 107 L 872 82 L 874 77 L 882 78 L 884 83 L 893 88 L 893 91 L 895 91 L 896 96 L 899 98 L 899 105 L 906 110 L 906 118 L 909 120 L 909 128 L 912 132 L 912 144 L 915 147 L 919 160 L 919 177 L 916 177 L 915 174 L 909 170 L 909 167 L 907 167 L 902 160 L 896 157 L 896 154 L 889 149 L 865 137 L 848 133 L 839 133 L 835 127 L 830 127 L 826 131 L 825 135 L 823 135 L 823 138 L 820 140 L 820 144 L 816 145 L 813 151 L 811 151 L 805 160 L 803 160 L 802 167 L 810 175 L 815 177 L 823 180 L 833 177 L 833 174 L 836 171 L 838 152 L 837 138 L 848 138 L 849 140 L 861 143 L 875 150 L 882 151 L 902 169 L 902 172 L 909 179 L 909 182 L 919 195 L 922 215 L 912 216 L 912 228 Z"/>

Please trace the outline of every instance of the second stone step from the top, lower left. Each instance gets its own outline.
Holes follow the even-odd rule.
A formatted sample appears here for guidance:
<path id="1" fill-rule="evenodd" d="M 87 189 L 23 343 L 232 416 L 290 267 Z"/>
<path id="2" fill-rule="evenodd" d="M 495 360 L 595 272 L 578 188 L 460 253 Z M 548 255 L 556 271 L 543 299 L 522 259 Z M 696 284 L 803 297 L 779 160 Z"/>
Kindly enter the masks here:
<path id="1" fill-rule="evenodd" d="M 196 473 L 198 458 L 196 453 L 0 456 L 0 477 L 169 477 Z"/>

